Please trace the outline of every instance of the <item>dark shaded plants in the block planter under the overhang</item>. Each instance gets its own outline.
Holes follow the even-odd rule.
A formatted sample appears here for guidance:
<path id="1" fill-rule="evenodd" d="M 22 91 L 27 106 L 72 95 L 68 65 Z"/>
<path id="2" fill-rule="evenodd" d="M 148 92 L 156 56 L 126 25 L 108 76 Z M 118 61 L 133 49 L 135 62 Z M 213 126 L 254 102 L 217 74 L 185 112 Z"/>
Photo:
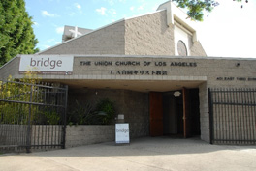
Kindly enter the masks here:
<path id="1" fill-rule="evenodd" d="M 69 125 L 108 125 L 111 124 L 115 115 L 115 110 L 112 100 L 100 100 L 96 107 L 90 103 L 80 104 L 75 100 L 76 104 L 73 105 L 68 113 Z"/>

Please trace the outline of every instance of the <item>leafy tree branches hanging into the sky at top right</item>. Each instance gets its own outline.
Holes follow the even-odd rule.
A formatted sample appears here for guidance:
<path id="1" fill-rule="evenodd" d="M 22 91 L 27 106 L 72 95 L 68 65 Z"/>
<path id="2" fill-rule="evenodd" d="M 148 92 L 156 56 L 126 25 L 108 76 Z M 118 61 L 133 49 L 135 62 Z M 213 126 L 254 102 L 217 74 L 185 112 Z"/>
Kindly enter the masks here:
<path id="1" fill-rule="evenodd" d="M 180 8 L 187 9 L 187 14 L 191 19 L 203 21 L 204 11 L 211 12 L 219 3 L 216 0 L 172 0 Z M 233 0 L 242 2 L 243 0 Z M 248 0 L 244 0 L 248 3 Z M 242 8 L 242 6 L 241 6 Z"/>

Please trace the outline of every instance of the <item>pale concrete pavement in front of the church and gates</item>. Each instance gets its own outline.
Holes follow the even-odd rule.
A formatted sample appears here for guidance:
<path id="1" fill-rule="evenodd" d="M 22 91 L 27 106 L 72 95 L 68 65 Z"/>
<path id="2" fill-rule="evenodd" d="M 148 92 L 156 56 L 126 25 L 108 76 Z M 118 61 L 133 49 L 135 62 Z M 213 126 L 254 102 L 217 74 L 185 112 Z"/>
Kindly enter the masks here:
<path id="1" fill-rule="evenodd" d="M 1 171 L 255 171 L 256 146 L 210 145 L 199 138 L 144 137 L 68 149 L 0 155 Z"/>

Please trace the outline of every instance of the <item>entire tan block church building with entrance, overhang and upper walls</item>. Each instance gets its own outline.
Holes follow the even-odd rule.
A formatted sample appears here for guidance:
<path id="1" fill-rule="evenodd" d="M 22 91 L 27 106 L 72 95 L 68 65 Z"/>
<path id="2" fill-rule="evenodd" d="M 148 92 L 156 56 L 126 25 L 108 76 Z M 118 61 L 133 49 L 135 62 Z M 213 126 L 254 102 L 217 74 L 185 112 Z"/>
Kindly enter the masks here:
<path id="1" fill-rule="evenodd" d="M 68 85 L 70 104 L 108 97 L 131 138 L 256 144 L 256 60 L 208 57 L 203 46 L 196 24 L 167 1 L 96 30 L 66 26 L 62 43 L 17 55 L 0 78 L 39 71 L 43 81 Z"/>

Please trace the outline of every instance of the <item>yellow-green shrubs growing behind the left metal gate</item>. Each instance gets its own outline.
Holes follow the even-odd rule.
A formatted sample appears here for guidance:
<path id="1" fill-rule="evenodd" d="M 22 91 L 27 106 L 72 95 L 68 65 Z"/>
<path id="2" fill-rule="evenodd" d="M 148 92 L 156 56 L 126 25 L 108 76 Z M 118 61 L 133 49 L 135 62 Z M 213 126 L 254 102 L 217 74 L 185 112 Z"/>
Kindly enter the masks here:
<path id="1" fill-rule="evenodd" d="M 37 74 L 28 71 L 20 80 L 26 84 L 17 84 L 12 76 L 7 82 L 0 81 L 0 99 L 18 101 L 0 101 L 0 123 L 26 125 L 29 111 L 31 111 L 31 123 L 33 124 L 55 125 L 59 123 L 60 115 L 54 108 L 21 103 L 29 102 L 31 98 L 33 102 L 43 102 L 42 92 L 34 86 L 39 80 Z"/>

